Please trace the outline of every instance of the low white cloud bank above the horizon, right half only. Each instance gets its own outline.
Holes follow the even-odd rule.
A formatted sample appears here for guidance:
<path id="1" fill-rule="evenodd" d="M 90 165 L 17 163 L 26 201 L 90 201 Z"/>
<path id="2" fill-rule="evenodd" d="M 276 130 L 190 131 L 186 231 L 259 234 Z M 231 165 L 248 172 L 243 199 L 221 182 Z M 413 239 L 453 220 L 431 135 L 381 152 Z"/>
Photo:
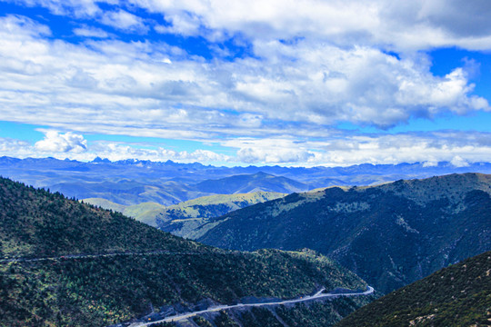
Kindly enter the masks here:
<path id="1" fill-rule="evenodd" d="M 234 139 L 223 143 L 237 149 L 233 160 L 245 163 L 299 166 L 346 166 L 359 163 L 424 163 L 446 161 L 461 167 L 487 162 L 491 134 L 427 132 L 405 134 L 336 134 L 322 141 L 288 138 Z"/>

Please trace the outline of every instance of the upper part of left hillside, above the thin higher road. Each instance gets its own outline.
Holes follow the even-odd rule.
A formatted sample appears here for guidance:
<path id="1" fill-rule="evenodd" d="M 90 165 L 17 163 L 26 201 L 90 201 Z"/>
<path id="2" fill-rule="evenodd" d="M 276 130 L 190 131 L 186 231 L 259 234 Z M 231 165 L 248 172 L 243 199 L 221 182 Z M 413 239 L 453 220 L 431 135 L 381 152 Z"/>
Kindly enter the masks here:
<path id="1" fill-rule="evenodd" d="M 121 213 L 67 200 L 60 193 L 0 180 L 0 256 L 205 249 Z"/>

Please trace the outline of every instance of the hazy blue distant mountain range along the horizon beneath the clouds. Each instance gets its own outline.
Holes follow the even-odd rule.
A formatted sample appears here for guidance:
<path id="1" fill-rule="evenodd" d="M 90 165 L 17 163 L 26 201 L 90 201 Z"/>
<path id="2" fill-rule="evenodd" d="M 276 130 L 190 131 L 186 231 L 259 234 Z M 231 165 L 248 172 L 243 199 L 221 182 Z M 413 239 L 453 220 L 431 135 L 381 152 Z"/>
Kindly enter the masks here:
<path id="1" fill-rule="evenodd" d="M 215 167 L 201 163 L 155 163 L 96 158 L 70 160 L 0 157 L 0 175 L 49 188 L 77 199 L 103 198 L 132 205 L 181 203 L 224 193 L 305 192 L 332 185 L 370 185 L 446 173 L 491 173 L 491 163 L 456 167 L 451 163 L 360 164 L 349 167 Z"/>

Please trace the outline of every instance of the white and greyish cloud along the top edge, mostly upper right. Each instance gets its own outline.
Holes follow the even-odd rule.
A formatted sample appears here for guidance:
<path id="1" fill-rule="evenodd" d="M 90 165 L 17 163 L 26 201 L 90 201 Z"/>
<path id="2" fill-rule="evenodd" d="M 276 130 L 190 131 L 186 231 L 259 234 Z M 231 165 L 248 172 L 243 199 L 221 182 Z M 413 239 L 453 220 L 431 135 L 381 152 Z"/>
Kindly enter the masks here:
<path id="1" fill-rule="evenodd" d="M 210 39 L 236 34 L 262 40 L 301 36 L 342 46 L 384 46 L 396 51 L 491 48 L 491 5 L 482 0 L 15 1 L 75 17 L 102 15 L 100 3 L 135 6 L 164 15 L 170 26 L 157 25 L 157 31 Z"/>

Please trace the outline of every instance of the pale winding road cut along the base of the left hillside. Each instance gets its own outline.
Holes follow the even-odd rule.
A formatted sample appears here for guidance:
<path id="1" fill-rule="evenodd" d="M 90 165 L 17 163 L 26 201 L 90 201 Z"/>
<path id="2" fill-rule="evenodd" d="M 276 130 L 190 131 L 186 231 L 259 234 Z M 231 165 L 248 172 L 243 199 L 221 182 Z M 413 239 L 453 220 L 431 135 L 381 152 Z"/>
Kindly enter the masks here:
<path id="1" fill-rule="evenodd" d="M 234 309 L 234 308 L 245 308 L 245 307 L 257 307 L 257 306 L 266 306 L 266 305 L 281 305 L 281 304 L 288 304 L 288 303 L 296 303 L 296 302 L 306 302 L 306 301 L 311 301 L 311 300 L 317 300 L 317 299 L 322 299 L 322 298 L 329 298 L 329 297 L 342 297 L 342 296 L 362 296 L 362 295 L 368 295 L 372 294 L 375 292 L 374 288 L 372 286 L 368 286 L 365 292 L 328 292 L 325 293 L 326 291 L 325 288 L 321 289 L 319 292 L 316 292 L 314 295 L 306 295 L 302 296 L 297 299 L 293 300 L 285 300 L 285 301 L 279 301 L 279 302 L 266 302 L 266 303 L 238 303 L 234 305 L 218 305 L 214 306 L 205 310 L 197 311 L 197 312 L 185 312 L 181 314 L 176 314 L 173 316 L 166 317 L 162 320 L 155 321 L 155 322 L 135 322 L 129 325 L 129 327 L 144 327 L 144 326 L 152 326 L 155 323 L 160 323 L 160 322 L 177 322 L 183 319 L 187 319 L 190 317 L 195 316 L 196 314 L 201 314 L 205 312 L 217 312 L 221 310 L 228 310 L 228 309 Z"/>

